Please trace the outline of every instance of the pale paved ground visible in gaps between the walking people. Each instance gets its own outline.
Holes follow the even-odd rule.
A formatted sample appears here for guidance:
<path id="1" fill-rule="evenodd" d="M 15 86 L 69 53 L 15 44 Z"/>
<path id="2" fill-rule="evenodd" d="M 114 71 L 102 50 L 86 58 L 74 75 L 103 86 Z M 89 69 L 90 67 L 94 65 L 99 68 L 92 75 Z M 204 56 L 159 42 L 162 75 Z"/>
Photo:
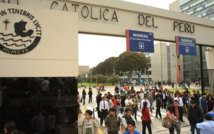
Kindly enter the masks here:
<path id="1" fill-rule="evenodd" d="M 140 90 L 140 87 L 136 87 L 135 89 L 136 91 Z M 82 94 L 82 88 L 78 89 L 80 95 Z M 96 89 L 92 89 L 93 91 L 93 99 L 92 99 L 92 103 L 88 104 L 88 96 L 86 97 L 86 105 L 81 105 L 81 110 L 85 111 L 86 109 L 90 109 L 90 110 L 95 110 L 96 109 L 96 95 L 97 95 L 97 90 Z M 88 89 L 86 89 L 86 92 L 88 92 Z M 106 91 L 102 92 L 103 94 L 106 92 L 111 92 L 112 94 L 114 94 L 114 87 L 106 87 Z M 166 110 L 161 110 L 161 114 L 162 117 L 164 117 L 166 115 Z M 122 116 L 122 115 L 120 115 Z M 97 112 L 95 111 L 95 119 L 98 120 L 98 122 L 100 121 L 98 116 L 97 116 Z M 153 113 L 151 114 L 151 119 L 152 119 L 152 133 L 153 134 L 168 134 L 169 131 L 168 129 L 162 127 L 162 120 L 161 119 L 157 119 L 155 118 L 155 110 L 153 111 Z M 190 134 L 190 126 L 189 126 L 189 122 L 187 120 L 186 117 L 184 117 L 184 121 L 182 123 L 182 127 L 181 127 L 181 134 Z M 142 132 L 142 120 L 141 120 L 141 112 L 138 111 L 137 113 L 137 125 L 136 125 L 136 129 L 140 132 Z M 105 126 L 100 126 L 99 129 L 99 133 L 100 134 L 107 134 L 106 128 Z M 148 131 L 147 131 L 148 133 Z M 121 132 L 119 133 L 121 134 Z"/>

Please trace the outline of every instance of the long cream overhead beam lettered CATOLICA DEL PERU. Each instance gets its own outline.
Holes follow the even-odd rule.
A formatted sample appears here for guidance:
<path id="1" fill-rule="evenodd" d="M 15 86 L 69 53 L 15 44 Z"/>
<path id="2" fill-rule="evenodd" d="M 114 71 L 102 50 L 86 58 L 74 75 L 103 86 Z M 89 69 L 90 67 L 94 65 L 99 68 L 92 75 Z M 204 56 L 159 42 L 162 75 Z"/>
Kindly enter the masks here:
<path id="1" fill-rule="evenodd" d="M 1 1 L 0 1 L 1 2 Z M 154 33 L 155 40 L 176 36 L 214 46 L 214 21 L 119 0 L 3 0 L 30 8 L 79 14 L 79 33 L 125 37 L 126 29 Z M 56 19 L 58 19 L 56 17 Z"/>

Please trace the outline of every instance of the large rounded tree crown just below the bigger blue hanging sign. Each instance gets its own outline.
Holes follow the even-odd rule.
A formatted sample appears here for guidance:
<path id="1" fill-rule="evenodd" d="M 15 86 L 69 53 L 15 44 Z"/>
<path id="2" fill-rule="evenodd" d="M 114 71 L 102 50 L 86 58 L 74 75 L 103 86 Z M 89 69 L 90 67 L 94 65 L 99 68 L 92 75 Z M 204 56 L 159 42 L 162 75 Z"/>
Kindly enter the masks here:
<path id="1" fill-rule="evenodd" d="M 133 71 L 143 72 L 149 67 L 149 59 L 143 53 L 124 52 L 119 55 L 115 62 L 116 70 L 118 72 L 129 72 L 129 76 Z"/>

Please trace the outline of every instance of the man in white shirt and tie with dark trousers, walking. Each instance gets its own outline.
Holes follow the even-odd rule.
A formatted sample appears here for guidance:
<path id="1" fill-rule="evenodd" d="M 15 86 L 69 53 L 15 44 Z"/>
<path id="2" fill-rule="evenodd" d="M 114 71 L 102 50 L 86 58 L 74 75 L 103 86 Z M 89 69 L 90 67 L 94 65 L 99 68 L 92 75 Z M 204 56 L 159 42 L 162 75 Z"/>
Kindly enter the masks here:
<path id="1" fill-rule="evenodd" d="M 99 107 L 100 113 L 101 113 L 101 118 L 100 118 L 100 125 L 103 125 L 103 120 L 106 119 L 106 116 L 108 115 L 109 112 L 109 105 L 108 102 L 106 101 L 106 98 L 103 97 L 102 101 L 100 102 L 100 107 Z"/>

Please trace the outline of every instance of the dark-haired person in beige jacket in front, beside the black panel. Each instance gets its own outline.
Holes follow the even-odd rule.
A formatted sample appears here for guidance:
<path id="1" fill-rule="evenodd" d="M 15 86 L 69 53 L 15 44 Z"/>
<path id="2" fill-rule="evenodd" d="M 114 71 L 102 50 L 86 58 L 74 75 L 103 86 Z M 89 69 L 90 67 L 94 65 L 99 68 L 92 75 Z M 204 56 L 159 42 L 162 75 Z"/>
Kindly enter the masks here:
<path id="1" fill-rule="evenodd" d="M 86 110 L 85 118 L 78 119 L 78 134 L 99 134 L 99 125 L 92 119 L 92 111 Z"/>

